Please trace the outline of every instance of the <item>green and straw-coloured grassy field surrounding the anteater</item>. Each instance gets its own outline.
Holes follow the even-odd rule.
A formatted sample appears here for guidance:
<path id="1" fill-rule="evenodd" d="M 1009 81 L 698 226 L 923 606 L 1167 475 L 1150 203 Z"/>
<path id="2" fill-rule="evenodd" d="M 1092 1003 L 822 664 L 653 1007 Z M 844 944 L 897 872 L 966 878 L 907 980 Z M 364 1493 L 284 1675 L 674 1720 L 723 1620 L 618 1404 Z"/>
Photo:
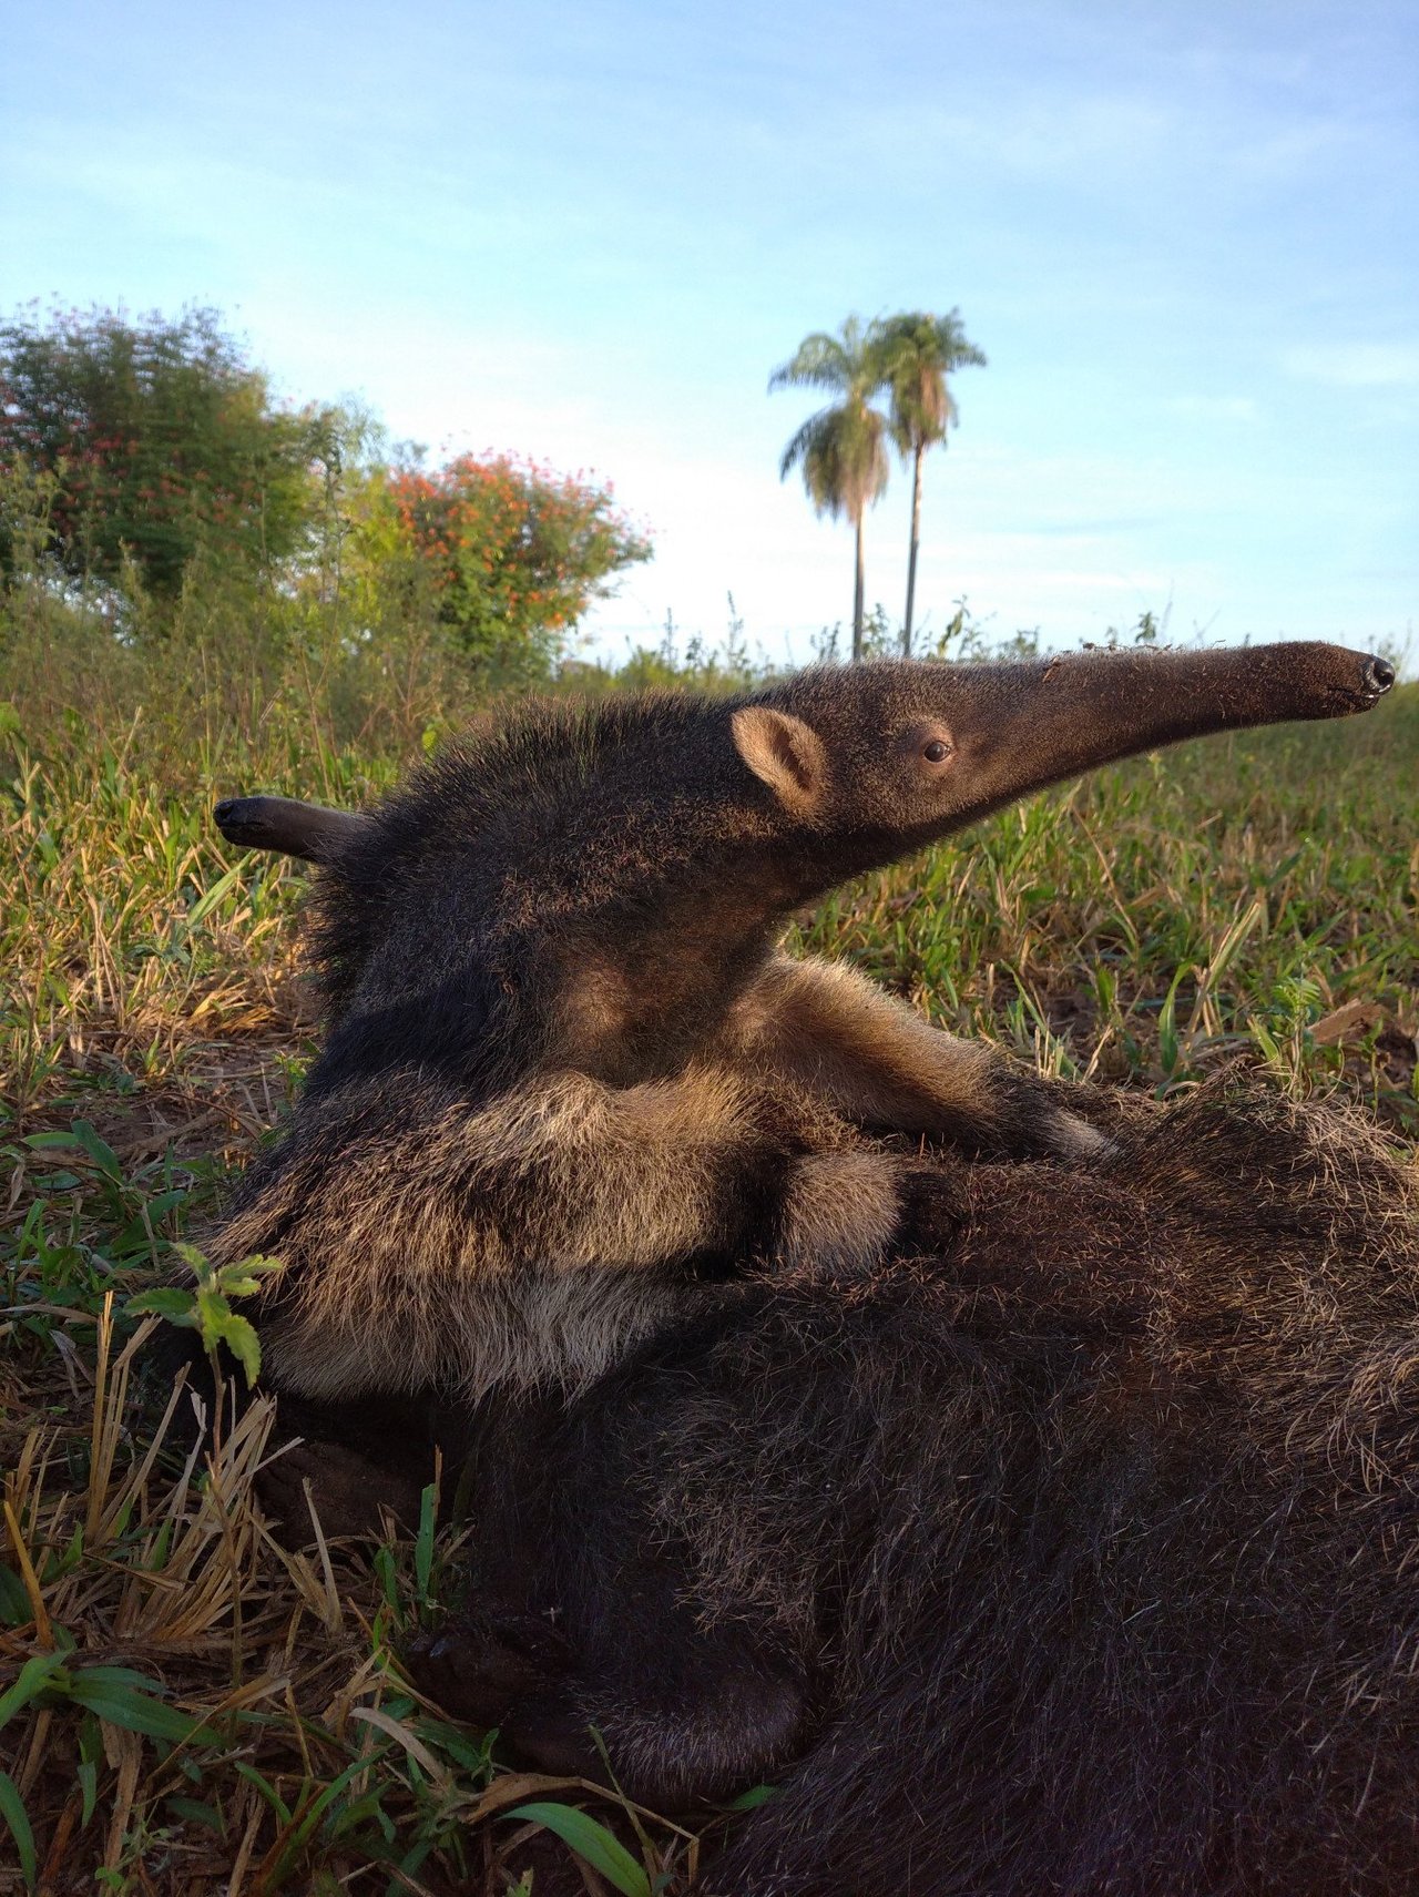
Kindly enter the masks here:
<path id="1" fill-rule="evenodd" d="M 262 1406 L 195 1466 L 131 1391 L 156 1320 L 125 1301 L 309 1055 L 302 876 L 230 852 L 212 799 L 362 802 L 402 759 L 159 723 L 0 723 L 0 1891 L 501 1889 L 529 1802 L 565 1831 L 613 1800 L 507 1774 L 408 1690 L 455 1544 L 285 1552 Z M 1167 1093 L 1243 1059 L 1411 1150 L 1417 766 L 1419 687 L 1140 759 L 842 893 L 808 941 L 1051 1072 Z M 617 1829 L 620 1857 L 580 1840 L 590 1888 L 692 1872 L 687 1833 Z"/>

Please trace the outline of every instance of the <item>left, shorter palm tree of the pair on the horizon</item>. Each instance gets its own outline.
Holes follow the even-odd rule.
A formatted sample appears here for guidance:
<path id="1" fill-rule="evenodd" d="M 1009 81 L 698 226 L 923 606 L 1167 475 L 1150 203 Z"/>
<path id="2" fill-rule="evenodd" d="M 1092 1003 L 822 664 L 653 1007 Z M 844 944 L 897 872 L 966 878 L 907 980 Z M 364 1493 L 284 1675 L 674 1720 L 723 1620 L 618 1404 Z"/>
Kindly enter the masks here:
<path id="1" fill-rule="evenodd" d="M 873 408 L 884 385 L 882 359 L 857 317 L 840 336 L 816 330 L 791 362 L 768 378 L 774 389 L 827 389 L 838 396 L 810 415 L 780 461 L 780 476 L 802 467 L 802 486 L 820 514 L 852 522 L 857 535 L 857 584 L 852 596 L 852 656 L 863 654 L 863 512 L 888 484 L 886 415 Z"/>

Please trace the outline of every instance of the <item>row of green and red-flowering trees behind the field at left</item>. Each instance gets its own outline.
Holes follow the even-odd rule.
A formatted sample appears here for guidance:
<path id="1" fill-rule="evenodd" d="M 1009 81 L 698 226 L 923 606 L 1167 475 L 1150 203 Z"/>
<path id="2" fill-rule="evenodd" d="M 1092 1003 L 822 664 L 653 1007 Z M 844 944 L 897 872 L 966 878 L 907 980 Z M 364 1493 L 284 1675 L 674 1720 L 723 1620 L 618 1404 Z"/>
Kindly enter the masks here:
<path id="1" fill-rule="evenodd" d="M 277 402 L 211 309 L 0 322 L 6 645 L 78 618 L 176 664 L 241 620 L 245 662 L 364 649 L 408 683 L 436 651 L 486 692 L 552 677 L 649 556 L 596 480 L 508 453 L 429 467 L 351 408 Z"/>

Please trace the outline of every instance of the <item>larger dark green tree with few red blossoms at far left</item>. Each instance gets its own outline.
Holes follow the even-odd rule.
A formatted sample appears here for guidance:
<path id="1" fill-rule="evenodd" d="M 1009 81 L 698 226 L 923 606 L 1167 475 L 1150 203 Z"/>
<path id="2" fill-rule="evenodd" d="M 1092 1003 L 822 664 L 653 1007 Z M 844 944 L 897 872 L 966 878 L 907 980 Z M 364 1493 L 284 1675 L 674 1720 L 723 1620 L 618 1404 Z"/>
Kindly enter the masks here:
<path id="1" fill-rule="evenodd" d="M 0 324 L 0 469 L 53 480 L 51 550 L 76 577 L 116 580 L 133 562 L 173 598 L 197 546 L 247 569 L 286 558 L 326 423 L 273 406 L 211 309 Z"/>

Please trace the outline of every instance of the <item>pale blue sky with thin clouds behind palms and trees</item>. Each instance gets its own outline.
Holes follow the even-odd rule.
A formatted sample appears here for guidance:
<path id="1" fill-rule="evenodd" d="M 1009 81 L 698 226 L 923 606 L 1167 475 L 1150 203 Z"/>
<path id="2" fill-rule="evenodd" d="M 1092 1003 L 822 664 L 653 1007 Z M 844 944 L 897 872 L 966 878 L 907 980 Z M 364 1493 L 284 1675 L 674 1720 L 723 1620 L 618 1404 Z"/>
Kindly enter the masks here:
<path id="1" fill-rule="evenodd" d="M 928 461 L 928 628 L 1413 626 L 1417 0 L 47 0 L 4 64 L 0 307 L 214 304 L 290 396 L 613 478 L 656 558 L 611 653 L 730 590 L 774 656 L 848 617 L 768 372 L 952 305 L 990 366 Z"/>

